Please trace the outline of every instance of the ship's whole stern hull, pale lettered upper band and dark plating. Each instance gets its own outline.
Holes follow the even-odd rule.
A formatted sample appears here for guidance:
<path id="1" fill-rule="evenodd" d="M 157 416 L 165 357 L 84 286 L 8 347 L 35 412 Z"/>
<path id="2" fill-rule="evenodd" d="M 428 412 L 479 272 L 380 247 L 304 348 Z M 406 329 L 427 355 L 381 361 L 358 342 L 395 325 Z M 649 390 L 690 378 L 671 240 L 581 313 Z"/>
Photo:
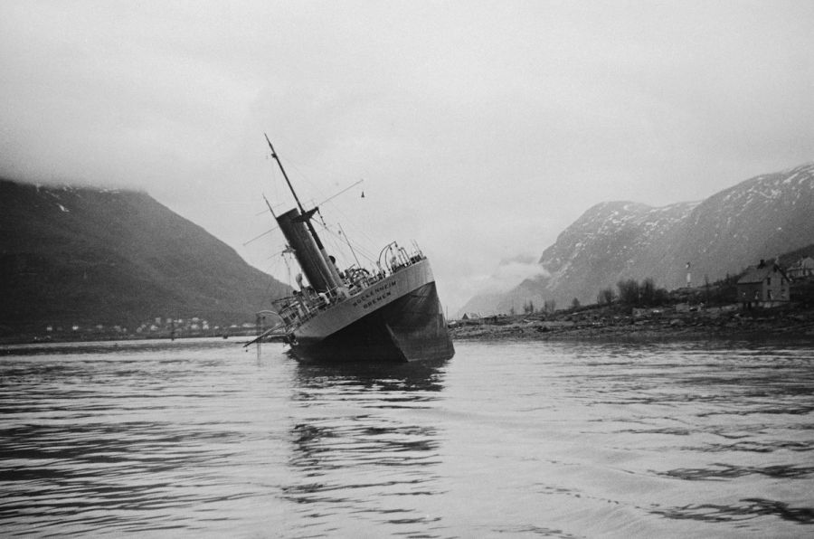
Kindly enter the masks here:
<path id="1" fill-rule="evenodd" d="M 298 359 L 320 363 L 403 363 L 455 354 L 426 260 L 309 320 L 289 341 Z"/>

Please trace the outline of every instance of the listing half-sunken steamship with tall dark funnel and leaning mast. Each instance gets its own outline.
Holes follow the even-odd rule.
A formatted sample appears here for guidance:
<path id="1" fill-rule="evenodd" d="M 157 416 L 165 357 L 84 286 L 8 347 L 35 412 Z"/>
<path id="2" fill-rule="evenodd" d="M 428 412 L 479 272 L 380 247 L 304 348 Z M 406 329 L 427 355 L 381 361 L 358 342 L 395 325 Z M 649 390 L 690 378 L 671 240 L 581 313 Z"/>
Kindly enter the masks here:
<path id="1" fill-rule="evenodd" d="M 455 349 L 430 260 L 421 249 L 413 245 L 407 251 L 393 241 L 379 253 L 373 270 L 354 265 L 340 271 L 313 225 L 317 208 L 303 208 L 269 137 L 266 140 L 297 202 L 297 207 L 274 217 L 308 279 L 303 285 L 298 276 L 294 295 L 274 302 L 291 353 L 320 363 L 452 357 Z"/>

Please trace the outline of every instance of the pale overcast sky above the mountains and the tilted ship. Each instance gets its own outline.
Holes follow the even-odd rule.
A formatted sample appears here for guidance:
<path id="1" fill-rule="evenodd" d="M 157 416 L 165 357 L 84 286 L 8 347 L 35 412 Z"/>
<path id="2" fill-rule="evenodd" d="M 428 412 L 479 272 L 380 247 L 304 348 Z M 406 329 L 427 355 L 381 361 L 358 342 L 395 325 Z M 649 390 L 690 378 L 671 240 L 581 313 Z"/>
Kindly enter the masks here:
<path id="1" fill-rule="evenodd" d="M 814 2 L 5 0 L 0 107 L 0 175 L 146 190 L 285 280 L 243 246 L 291 206 L 267 132 L 305 200 L 364 179 L 327 224 L 418 241 L 452 313 L 594 203 L 814 159 Z"/>

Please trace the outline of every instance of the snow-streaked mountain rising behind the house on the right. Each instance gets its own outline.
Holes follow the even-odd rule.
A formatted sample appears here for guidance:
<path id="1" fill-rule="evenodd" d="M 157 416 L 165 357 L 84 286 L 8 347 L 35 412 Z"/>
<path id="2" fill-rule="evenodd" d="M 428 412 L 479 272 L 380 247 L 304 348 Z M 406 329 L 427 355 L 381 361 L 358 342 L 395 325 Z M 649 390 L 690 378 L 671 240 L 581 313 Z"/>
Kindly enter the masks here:
<path id="1" fill-rule="evenodd" d="M 486 312 L 522 312 L 529 300 L 593 303 L 601 288 L 615 288 L 620 279 L 652 278 L 658 287 L 678 288 L 686 285 L 687 262 L 693 284 L 714 281 L 814 242 L 812 216 L 814 164 L 754 177 L 700 203 L 600 203 L 543 252 L 537 276 L 500 298 L 472 298 L 462 311 L 474 304 Z"/>

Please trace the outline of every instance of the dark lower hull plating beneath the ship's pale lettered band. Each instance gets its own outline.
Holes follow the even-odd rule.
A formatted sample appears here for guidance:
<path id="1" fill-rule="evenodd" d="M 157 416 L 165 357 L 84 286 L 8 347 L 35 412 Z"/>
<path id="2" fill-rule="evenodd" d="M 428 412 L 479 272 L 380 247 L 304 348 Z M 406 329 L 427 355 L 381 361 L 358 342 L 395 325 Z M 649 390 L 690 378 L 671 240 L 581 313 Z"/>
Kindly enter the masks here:
<path id="1" fill-rule="evenodd" d="M 435 282 L 374 310 L 324 338 L 291 343 L 299 359 L 314 362 L 407 362 L 455 354 Z"/>

